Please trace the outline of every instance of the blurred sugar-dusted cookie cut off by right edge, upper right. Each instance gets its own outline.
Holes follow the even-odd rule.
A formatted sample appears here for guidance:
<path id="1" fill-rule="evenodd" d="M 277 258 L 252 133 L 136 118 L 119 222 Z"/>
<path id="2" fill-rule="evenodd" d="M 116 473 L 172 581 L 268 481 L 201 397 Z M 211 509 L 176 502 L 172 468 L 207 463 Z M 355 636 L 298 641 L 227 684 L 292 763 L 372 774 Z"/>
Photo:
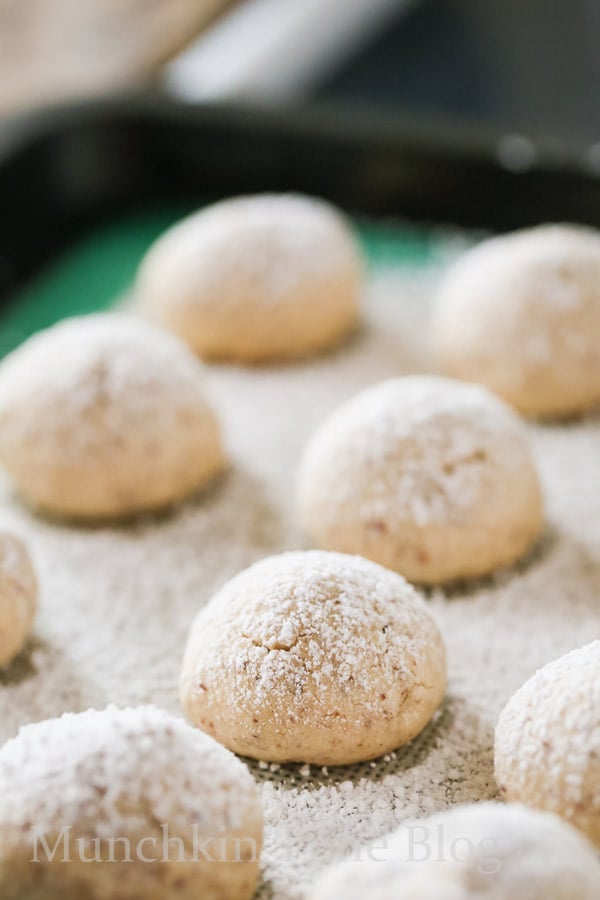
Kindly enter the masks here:
<path id="1" fill-rule="evenodd" d="M 439 289 L 433 345 L 445 374 L 528 415 L 600 403 L 600 234 L 544 226 L 465 253 Z"/>

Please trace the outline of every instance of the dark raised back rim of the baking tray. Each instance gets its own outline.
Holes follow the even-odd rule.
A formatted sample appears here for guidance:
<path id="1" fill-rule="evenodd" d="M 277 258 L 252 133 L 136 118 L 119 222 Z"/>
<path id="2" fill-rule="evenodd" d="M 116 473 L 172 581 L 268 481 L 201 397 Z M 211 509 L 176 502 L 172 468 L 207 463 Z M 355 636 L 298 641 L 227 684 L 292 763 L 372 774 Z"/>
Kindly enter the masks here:
<path id="1" fill-rule="evenodd" d="M 600 226 L 600 178 L 576 149 L 327 106 L 191 106 L 137 95 L 3 127 L 0 299 L 117 209 L 264 190 L 467 227 Z"/>

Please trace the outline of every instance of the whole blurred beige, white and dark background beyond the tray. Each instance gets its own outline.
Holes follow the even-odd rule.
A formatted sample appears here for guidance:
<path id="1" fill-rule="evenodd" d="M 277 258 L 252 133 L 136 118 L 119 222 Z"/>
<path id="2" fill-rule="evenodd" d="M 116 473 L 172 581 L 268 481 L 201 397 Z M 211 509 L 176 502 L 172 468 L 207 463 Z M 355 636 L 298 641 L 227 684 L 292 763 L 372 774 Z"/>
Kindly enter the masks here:
<path id="1" fill-rule="evenodd" d="M 598 0 L 0 0 L 0 111 L 143 88 L 595 147 Z"/>

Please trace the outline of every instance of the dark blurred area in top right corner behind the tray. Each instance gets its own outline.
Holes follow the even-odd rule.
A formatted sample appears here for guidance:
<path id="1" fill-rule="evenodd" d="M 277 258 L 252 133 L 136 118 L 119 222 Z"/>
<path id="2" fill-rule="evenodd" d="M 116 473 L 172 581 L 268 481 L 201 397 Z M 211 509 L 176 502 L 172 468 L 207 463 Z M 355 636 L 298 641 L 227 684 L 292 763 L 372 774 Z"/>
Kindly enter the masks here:
<path id="1" fill-rule="evenodd" d="M 390 113 L 596 142 L 600 6 L 421 0 L 317 89 Z"/>

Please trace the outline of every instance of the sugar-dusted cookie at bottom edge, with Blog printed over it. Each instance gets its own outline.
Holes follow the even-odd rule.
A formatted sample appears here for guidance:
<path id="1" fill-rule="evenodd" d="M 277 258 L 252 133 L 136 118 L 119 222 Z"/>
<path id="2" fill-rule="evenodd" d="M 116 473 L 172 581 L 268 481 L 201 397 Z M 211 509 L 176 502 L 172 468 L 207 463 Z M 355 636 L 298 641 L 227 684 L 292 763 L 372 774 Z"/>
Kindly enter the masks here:
<path id="1" fill-rule="evenodd" d="M 308 900 L 596 900 L 599 884 L 594 847 L 557 816 L 477 803 L 409 822 L 332 866 Z"/>

